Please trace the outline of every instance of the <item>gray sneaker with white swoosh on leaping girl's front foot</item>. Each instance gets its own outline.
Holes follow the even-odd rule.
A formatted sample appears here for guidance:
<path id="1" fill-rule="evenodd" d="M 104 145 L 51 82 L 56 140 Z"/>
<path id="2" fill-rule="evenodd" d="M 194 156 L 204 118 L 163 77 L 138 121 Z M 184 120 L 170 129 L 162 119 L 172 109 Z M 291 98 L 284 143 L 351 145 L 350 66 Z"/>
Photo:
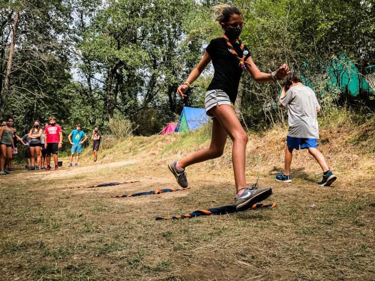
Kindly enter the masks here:
<path id="1" fill-rule="evenodd" d="M 263 201 L 272 194 L 270 187 L 258 188 L 257 185 L 253 187 L 246 187 L 239 197 L 234 197 L 234 204 L 237 211 L 245 211 L 251 208 L 254 204 Z"/>

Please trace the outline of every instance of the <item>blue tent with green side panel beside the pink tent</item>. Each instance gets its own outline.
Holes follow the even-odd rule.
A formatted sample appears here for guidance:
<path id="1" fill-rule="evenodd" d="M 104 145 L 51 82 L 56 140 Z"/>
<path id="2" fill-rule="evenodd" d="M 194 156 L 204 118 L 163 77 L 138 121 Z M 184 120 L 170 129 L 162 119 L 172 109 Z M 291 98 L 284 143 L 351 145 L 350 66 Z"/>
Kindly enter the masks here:
<path id="1" fill-rule="evenodd" d="M 210 118 L 207 116 L 204 108 L 192 108 L 184 106 L 175 132 L 185 133 L 194 131 L 208 121 L 210 121 Z"/>

